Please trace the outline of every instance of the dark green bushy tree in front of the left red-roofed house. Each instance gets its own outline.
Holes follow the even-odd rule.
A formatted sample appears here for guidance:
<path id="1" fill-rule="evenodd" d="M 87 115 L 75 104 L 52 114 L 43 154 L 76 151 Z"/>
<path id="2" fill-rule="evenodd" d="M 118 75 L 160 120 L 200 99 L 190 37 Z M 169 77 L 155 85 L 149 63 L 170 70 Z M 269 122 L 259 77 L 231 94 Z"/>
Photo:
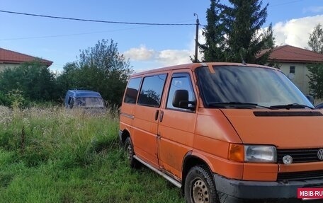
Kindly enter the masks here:
<path id="1" fill-rule="evenodd" d="M 57 99 L 55 75 L 39 61 L 26 62 L 1 72 L 0 91 L 4 94 L 21 91 L 23 97 L 28 100 Z"/>

